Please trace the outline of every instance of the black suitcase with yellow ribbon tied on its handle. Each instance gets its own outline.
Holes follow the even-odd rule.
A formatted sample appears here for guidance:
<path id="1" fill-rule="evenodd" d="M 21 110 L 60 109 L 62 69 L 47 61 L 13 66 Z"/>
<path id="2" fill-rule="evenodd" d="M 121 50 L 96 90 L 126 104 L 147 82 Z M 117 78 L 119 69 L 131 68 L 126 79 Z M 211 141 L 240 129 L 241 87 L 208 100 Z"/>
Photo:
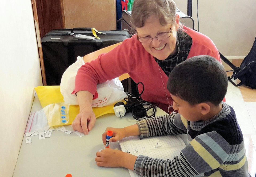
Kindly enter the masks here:
<path id="1" fill-rule="evenodd" d="M 75 35 L 93 37 L 91 28 L 54 29 L 42 37 L 43 62 L 47 85 L 60 85 L 64 71 L 78 56 L 85 56 L 101 48 L 113 45 L 130 37 L 124 30 L 100 31 L 101 39 L 87 39 Z"/>

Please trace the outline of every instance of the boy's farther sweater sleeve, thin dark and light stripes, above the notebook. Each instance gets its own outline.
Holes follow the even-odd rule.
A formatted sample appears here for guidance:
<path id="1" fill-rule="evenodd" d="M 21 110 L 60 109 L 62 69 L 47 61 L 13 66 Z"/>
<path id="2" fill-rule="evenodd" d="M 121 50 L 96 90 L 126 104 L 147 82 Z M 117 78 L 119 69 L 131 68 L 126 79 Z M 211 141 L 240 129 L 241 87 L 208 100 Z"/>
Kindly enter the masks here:
<path id="1" fill-rule="evenodd" d="M 187 133 L 187 121 L 182 121 L 178 113 L 143 119 L 136 124 L 139 126 L 141 138 Z"/>

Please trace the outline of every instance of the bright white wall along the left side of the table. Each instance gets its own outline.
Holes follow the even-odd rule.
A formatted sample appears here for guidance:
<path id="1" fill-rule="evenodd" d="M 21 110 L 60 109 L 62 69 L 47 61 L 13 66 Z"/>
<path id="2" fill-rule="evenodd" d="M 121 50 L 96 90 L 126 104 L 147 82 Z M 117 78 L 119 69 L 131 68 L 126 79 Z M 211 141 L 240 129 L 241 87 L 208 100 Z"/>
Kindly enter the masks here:
<path id="1" fill-rule="evenodd" d="M 31 2 L 1 1 L 0 21 L 0 176 L 9 177 L 42 78 Z"/>

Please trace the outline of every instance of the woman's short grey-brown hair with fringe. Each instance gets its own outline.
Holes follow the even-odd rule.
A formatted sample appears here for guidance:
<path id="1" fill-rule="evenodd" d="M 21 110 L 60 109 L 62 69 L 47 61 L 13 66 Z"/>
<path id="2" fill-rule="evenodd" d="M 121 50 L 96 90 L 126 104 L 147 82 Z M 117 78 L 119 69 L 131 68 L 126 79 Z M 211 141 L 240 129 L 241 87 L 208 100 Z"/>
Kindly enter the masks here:
<path id="1" fill-rule="evenodd" d="M 134 0 L 131 23 L 134 28 L 141 28 L 152 14 L 158 16 L 163 26 L 174 23 L 176 4 L 173 0 Z"/>

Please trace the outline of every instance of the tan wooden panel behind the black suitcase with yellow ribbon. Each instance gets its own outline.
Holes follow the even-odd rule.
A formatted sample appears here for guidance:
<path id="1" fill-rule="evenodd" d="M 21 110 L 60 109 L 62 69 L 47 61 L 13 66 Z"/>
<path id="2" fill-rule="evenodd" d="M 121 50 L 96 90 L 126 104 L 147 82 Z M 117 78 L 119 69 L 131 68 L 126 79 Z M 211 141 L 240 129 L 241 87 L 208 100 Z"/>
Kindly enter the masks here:
<path id="1" fill-rule="evenodd" d="M 116 0 L 63 0 L 66 28 L 116 29 Z"/>

